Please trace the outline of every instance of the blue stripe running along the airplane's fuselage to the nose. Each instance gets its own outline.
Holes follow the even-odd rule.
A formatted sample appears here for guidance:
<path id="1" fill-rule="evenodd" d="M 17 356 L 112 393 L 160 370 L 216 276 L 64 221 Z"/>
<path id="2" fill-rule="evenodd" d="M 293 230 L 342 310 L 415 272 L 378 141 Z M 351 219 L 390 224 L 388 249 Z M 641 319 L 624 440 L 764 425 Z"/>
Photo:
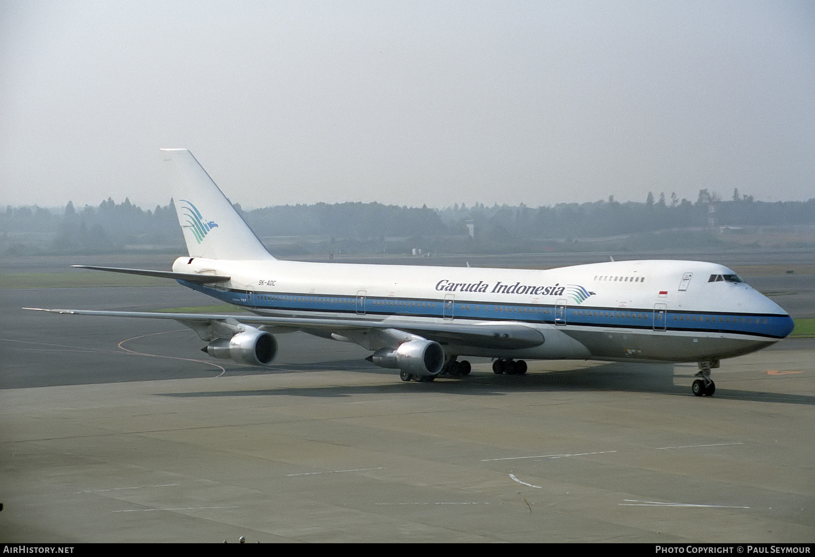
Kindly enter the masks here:
<path id="1" fill-rule="evenodd" d="M 356 314 L 356 297 L 304 294 L 302 292 L 253 292 L 247 302 L 247 292 L 218 290 L 202 284 L 178 283 L 218 300 L 247 309 L 276 309 L 284 311 L 331 312 Z M 421 304 L 425 306 L 422 307 Z M 432 298 L 382 298 L 367 296 L 365 314 L 376 316 L 399 315 L 405 317 L 443 318 L 443 300 Z M 484 304 L 456 300 L 453 315 L 457 319 L 479 321 L 517 321 L 528 323 L 554 323 L 554 305 Z M 696 321 L 693 320 L 694 316 Z M 676 320 L 674 319 L 676 317 Z M 685 320 L 680 320 L 684 317 Z M 704 312 L 667 311 L 664 315 L 668 331 L 721 332 L 780 339 L 791 331 L 791 318 L 776 314 L 713 314 Z M 719 318 L 722 321 L 719 321 Z M 705 321 L 710 319 L 710 321 Z M 714 321 L 715 319 L 715 321 Z M 729 321 L 728 321 L 729 319 Z M 743 322 L 742 322 L 743 320 Z M 766 320 L 766 322 L 764 322 Z M 625 328 L 641 331 L 654 330 L 654 309 L 609 309 L 599 306 L 566 308 L 566 326 Z"/>

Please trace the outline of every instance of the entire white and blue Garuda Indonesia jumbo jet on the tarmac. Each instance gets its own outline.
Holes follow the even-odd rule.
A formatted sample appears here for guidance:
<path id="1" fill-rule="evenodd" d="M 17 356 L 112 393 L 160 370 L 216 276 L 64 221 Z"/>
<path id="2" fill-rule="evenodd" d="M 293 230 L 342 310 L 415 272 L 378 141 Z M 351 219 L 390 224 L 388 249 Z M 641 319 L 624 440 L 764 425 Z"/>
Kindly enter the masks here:
<path id="1" fill-rule="evenodd" d="M 695 395 L 712 395 L 720 360 L 765 348 L 793 328 L 786 312 L 723 265 L 610 261 L 551 270 L 359 265 L 272 257 L 187 149 L 162 149 L 187 243 L 172 271 L 74 265 L 174 278 L 253 315 L 39 309 L 173 319 L 210 356 L 271 364 L 275 335 L 305 331 L 371 350 L 403 381 L 468 375 L 460 357 L 698 362 Z"/>

